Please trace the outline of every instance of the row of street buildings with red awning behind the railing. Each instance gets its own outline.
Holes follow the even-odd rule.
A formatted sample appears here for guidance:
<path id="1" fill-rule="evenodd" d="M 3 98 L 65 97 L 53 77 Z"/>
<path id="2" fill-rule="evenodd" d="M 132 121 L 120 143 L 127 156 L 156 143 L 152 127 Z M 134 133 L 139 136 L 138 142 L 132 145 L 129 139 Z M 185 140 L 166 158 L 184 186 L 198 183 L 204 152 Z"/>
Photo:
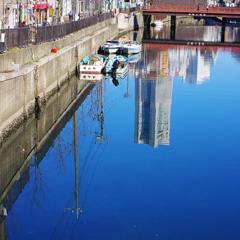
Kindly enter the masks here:
<path id="1" fill-rule="evenodd" d="M 79 20 L 119 7 L 118 0 L 0 0 L 0 28 Z"/>

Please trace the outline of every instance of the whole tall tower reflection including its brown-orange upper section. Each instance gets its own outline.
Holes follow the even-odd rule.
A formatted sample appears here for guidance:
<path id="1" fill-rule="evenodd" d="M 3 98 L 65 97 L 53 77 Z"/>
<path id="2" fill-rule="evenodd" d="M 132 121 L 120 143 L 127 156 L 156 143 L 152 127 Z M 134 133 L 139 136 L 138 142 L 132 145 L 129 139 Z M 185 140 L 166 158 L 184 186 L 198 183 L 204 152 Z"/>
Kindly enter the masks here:
<path id="1" fill-rule="evenodd" d="M 173 82 L 167 53 L 146 54 L 147 65 L 135 84 L 135 142 L 157 147 L 169 144 Z"/>

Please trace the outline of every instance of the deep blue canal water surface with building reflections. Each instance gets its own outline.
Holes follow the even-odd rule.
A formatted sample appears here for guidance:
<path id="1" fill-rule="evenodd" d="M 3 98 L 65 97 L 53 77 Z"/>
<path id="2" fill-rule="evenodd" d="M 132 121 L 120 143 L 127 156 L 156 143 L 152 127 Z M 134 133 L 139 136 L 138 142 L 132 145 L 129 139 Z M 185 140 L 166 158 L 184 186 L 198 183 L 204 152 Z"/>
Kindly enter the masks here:
<path id="1" fill-rule="evenodd" d="M 237 48 L 143 44 L 35 147 L 0 238 L 240 239 L 239 68 Z M 26 152 L 32 121 L 6 158 Z"/>

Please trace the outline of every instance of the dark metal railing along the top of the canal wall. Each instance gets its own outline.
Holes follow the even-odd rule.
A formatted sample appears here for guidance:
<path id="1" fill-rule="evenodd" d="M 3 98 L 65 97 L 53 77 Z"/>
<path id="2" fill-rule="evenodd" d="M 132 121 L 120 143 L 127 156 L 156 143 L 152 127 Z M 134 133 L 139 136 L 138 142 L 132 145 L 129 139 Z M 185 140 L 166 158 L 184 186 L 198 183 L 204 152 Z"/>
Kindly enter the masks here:
<path id="1" fill-rule="evenodd" d="M 0 43 L 0 53 L 14 47 L 26 47 L 29 43 L 39 44 L 54 41 L 83 28 L 105 21 L 112 17 L 111 12 L 90 16 L 78 21 L 72 21 L 50 26 L 28 26 L 15 29 L 3 29 L 5 42 Z"/>

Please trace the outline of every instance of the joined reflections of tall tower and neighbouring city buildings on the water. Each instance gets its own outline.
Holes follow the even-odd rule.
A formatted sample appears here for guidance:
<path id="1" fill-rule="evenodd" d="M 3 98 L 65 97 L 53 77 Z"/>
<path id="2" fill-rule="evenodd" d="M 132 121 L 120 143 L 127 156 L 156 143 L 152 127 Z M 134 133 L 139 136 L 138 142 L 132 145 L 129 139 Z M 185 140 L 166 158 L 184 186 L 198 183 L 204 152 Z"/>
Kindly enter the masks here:
<path id="1" fill-rule="evenodd" d="M 191 84 L 208 81 L 217 52 L 154 46 L 144 46 L 135 74 L 135 142 L 155 148 L 170 144 L 173 79 L 180 77 Z"/>

